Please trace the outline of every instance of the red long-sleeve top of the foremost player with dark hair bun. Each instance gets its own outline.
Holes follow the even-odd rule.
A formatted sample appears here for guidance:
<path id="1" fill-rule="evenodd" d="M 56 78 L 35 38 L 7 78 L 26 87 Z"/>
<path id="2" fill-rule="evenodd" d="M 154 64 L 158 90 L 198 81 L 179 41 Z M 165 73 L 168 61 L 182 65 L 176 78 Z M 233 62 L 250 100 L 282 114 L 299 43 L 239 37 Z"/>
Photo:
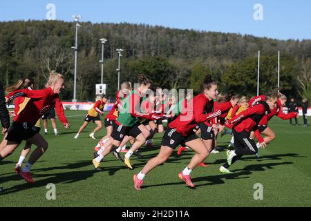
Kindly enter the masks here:
<path id="1" fill-rule="evenodd" d="M 182 136 L 193 133 L 192 129 L 198 123 L 211 120 L 221 114 L 220 110 L 205 114 L 209 104 L 212 103 L 204 94 L 194 97 L 187 102 L 187 108 L 183 107 L 180 115 L 169 124 L 169 127 L 176 128 Z"/>

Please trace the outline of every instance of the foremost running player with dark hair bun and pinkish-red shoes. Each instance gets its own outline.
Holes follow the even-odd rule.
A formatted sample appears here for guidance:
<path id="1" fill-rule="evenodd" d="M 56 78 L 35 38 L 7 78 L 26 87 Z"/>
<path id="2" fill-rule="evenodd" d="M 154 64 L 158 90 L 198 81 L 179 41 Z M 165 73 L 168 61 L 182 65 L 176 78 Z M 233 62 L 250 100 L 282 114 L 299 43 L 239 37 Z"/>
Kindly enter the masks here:
<path id="1" fill-rule="evenodd" d="M 140 173 L 133 176 L 134 188 L 136 190 L 141 189 L 145 175 L 156 166 L 167 161 L 174 149 L 182 143 L 185 143 L 196 151 L 196 155 L 192 157 L 189 165 L 182 172 L 178 173 L 178 177 L 184 180 L 188 186 L 194 188 L 190 173 L 200 162 L 205 160 L 209 155 L 209 151 L 207 151 L 205 144 L 194 133 L 193 129 L 196 124 L 213 119 L 221 114 L 221 111 L 217 111 L 216 113 L 204 113 L 207 106 L 210 105 L 213 99 L 216 99 L 218 94 L 217 84 L 215 81 L 211 80 L 209 75 L 205 77 L 205 80 L 202 82 L 201 91 L 202 93 L 200 95 L 189 101 L 187 111 L 182 111 L 182 113 L 167 126 L 167 131 L 165 131 L 162 138 L 160 153 L 149 160 Z"/>

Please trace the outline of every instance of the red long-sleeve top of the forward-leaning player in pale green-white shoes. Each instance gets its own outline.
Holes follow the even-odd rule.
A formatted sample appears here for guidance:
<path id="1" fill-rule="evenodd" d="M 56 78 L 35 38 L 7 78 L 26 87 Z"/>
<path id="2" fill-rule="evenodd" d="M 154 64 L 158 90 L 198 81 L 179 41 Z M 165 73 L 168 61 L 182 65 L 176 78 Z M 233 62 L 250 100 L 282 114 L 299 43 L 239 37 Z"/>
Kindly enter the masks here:
<path id="1" fill-rule="evenodd" d="M 229 119 L 228 122 L 229 124 L 234 124 L 234 130 L 239 133 L 242 131 L 256 131 L 258 129 L 258 123 L 270 112 L 267 103 L 262 102 L 261 104 L 249 107 L 247 110 L 242 111 L 235 117 L 232 117 L 232 119 Z"/>

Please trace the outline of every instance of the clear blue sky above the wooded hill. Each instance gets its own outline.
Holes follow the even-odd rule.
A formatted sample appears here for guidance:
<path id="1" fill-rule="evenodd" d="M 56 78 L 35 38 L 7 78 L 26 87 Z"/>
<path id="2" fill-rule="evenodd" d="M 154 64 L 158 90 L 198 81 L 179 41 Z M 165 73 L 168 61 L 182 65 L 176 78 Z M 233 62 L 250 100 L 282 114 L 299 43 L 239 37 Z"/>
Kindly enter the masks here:
<path id="1" fill-rule="evenodd" d="M 0 21 L 44 20 L 54 3 L 56 19 L 147 23 L 171 28 L 234 32 L 276 39 L 311 39 L 310 0 L 10 0 L 0 3 Z M 255 21 L 254 4 L 263 6 Z"/>

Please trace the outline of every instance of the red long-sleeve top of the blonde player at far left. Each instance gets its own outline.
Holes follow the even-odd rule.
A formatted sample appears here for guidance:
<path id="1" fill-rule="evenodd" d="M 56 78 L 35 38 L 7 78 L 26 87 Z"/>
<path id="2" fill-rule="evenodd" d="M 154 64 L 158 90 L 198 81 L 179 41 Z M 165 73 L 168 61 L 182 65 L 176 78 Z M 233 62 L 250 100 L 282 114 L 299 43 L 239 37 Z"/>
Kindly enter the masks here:
<path id="1" fill-rule="evenodd" d="M 42 90 L 29 90 L 27 88 L 16 90 L 6 95 L 6 97 L 11 100 L 16 97 L 31 98 L 25 108 L 23 108 L 23 111 L 13 119 L 15 122 L 28 122 L 31 126 L 35 126 L 42 115 L 47 113 L 48 110 L 55 108 L 59 120 L 63 124 L 68 124 L 59 94 L 55 94 L 50 87 Z"/>

